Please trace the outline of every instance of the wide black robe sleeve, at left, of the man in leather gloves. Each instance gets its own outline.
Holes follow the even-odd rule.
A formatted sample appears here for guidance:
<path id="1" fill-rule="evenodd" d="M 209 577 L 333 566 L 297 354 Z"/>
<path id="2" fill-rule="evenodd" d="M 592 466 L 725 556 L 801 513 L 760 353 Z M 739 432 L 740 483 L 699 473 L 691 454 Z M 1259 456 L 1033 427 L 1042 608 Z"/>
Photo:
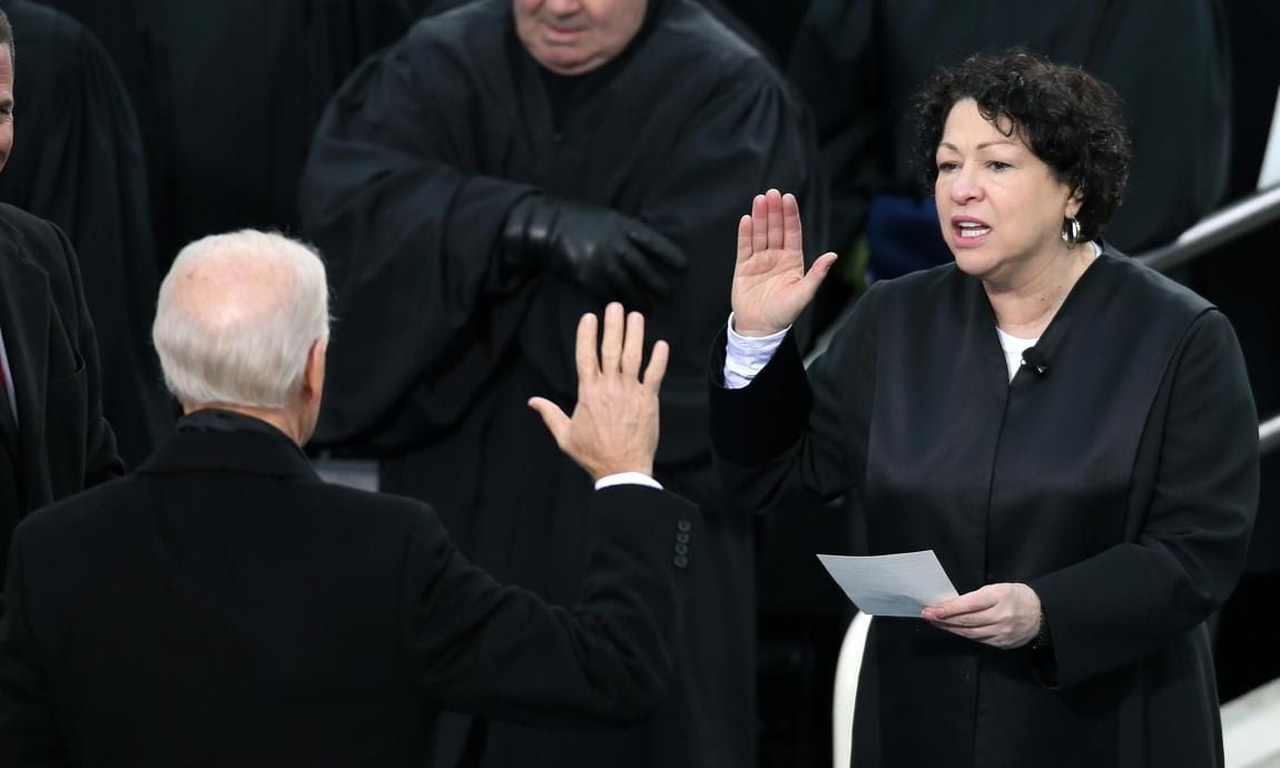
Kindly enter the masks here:
<path id="1" fill-rule="evenodd" d="M 466 166 L 463 73 L 419 26 L 329 104 L 300 212 L 334 291 L 317 439 L 394 451 L 462 419 L 524 305 L 498 270 L 511 206 L 531 187 Z"/>

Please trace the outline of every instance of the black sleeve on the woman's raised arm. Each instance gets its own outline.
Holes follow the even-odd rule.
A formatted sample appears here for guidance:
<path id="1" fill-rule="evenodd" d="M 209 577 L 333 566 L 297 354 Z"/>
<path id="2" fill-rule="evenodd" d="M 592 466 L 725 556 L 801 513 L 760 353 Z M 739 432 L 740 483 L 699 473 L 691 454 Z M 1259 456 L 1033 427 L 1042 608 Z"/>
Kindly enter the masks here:
<path id="1" fill-rule="evenodd" d="M 795 339 L 745 388 L 723 387 L 724 334 L 712 352 L 712 444 L 730 498 L 763 509 L 827 502 L 861 483 L 876 385 L 872 285 L 808 376 Z"/>

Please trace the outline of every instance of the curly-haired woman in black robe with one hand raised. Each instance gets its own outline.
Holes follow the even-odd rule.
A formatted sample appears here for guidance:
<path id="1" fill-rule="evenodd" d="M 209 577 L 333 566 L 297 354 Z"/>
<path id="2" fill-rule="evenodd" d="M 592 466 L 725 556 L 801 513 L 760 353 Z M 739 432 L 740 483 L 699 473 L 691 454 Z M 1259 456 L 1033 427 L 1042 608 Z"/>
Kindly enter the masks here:
<path id="1" fill-rule="evenodd" d="M 769 191 L 710 387 L 730 493 L 851 494 L 869 554 L 933 549 L 960 593 L 872 623 L 852 763 L 1222 765 L 1204 622 L 1258 493 L 1231 325 L 1100 239 L 1129 160 L 1110 88 L 1011 51 L 915 110 L 954 262 L 873 284 L 806 375 L 787 328 L 835 255 L 805 274 Z"/>

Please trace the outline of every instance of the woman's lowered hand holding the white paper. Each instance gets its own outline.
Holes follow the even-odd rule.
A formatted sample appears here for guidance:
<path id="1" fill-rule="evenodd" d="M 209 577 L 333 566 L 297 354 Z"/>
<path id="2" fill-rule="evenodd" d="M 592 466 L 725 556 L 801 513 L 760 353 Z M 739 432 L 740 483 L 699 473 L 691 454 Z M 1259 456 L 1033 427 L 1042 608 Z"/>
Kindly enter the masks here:
<path id="1" fill-rule="evenodd" d="M 1039 632 L 1041 603 L 1025 584 L 988 584 L 920 612 L 933 626 L 995 648 L 1019 648 Z"/>

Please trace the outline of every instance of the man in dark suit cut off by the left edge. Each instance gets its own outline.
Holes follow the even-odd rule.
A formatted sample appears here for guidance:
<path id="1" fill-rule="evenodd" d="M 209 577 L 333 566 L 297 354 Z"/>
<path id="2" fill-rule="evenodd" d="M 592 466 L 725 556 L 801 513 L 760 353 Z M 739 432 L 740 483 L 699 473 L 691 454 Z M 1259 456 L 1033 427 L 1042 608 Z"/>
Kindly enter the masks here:
<path id="1" fill-rule="evenodd" d="M 0 169 L 14 140 L 13 61 L 13 29 L 0 12 Z M 70 242 L 0 204 L 0 567 L 28 512 L 124 471 L 101 381 Z"/>

